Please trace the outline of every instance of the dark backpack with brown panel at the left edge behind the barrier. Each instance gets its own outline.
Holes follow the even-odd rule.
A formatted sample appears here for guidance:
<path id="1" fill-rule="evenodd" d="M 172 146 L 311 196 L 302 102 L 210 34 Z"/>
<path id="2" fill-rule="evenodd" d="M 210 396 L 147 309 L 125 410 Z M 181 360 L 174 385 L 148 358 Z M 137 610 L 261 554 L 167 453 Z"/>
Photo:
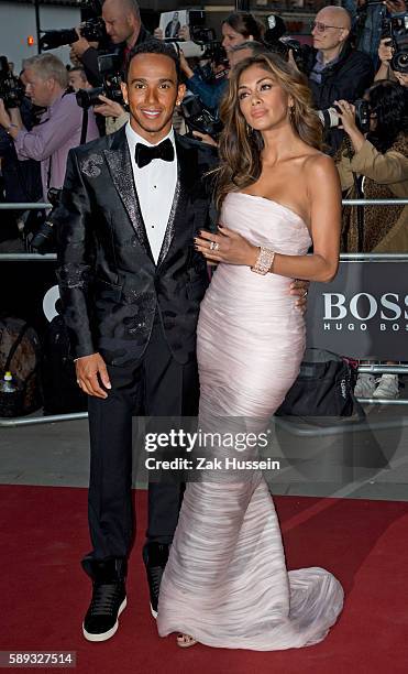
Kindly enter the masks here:
<path id="1" fill-rule="evenodd" d="M 40 363 L 41 345 L 34 328 L 22 318 L 1 318 L 0 377 L 10 371 L 16 390 L 0 392 L 0 416 L 24 416 L 41 407 Z"/>

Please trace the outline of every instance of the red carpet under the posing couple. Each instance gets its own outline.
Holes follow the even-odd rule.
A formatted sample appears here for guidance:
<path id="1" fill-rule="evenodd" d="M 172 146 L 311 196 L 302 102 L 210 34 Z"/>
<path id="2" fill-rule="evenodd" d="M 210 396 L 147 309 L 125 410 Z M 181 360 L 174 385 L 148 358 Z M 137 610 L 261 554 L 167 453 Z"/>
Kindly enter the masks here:
<path id="1" fill-rule="evenodd" d="M 276 498 L 289 568 L 330 569 L 344 586 L 345 608 L 322 643 L 255 653 L 181 650 L 174 637 L 157 637 L 141 562 L 144 492 L 120 631 L 106 643 L 86 642 L 89 581 L 79 566 L 89 550 L 86 498 L 85 489 L 0 487 L 0 650 L 76 651 L 80 674 L 408 671 L 408 502 Z"/>

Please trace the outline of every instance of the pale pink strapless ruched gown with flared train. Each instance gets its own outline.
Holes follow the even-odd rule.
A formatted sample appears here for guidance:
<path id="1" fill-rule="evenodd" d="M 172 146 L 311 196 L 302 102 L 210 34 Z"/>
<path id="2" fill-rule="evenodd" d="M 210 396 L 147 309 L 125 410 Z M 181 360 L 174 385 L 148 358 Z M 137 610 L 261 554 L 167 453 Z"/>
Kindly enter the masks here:
<path id="1" fill-rule="evenodd" d="M 277 252 L 305 254 L 310 246 L 298 215 L 261 197 L 230 194 L 221 221 Z M 197 333 L 200 428 L 228 430 L 234 417 L 260 431 L 282 403 L 305 349 L 305 323 L 289 284 L 247 267 L 218 267 Z M 231 449 L 212 454 L 231 456 Z M 319 567 L 287 572 L 260 471 L 245 481 L 207 477 L 186 488 L 161 586 L 158 633 L 185 632 L 210 646 L 256 651 L 321 641 L 342 610 L 339 581 Z"/>

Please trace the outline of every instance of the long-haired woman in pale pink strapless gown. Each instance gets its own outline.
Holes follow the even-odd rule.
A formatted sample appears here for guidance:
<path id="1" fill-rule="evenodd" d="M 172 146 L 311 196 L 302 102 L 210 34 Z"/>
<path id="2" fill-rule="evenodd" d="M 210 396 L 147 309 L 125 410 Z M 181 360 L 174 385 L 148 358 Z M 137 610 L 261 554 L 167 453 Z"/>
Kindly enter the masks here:
<path id="1" fill-rule="evenodd" d="M 290 282 L 329 281 L 337 272 L 341 193 L 332 160 L 319 151 L 307 85 L 278 57 L 239 64 L 221 113 L 222 225 L 196 240 L 218 262 L 197 333 L 199 428 L 258 433 L 305 349 Z M 287 572 L 262 472 L 236 477 L 225 468 L 224 459 L 253 459 L 254 450 L 243 457 L 220 441 L 201 454 L 223 469 L 187 485 L 161 586 L 159 634 L 179 632 L 181 646 L 258 651 L 321 641 L 342 609 L 341 585 L 319 567 Z"/>

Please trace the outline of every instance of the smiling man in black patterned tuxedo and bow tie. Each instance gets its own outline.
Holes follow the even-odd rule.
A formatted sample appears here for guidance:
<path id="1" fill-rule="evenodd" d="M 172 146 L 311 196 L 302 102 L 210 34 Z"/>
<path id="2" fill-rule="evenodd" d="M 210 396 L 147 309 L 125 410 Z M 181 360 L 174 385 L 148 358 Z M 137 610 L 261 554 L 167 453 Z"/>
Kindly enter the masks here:
<path id="1" fill-rule="evenodd" d="M 197 414 L 196 325 L 208 276 L 194 237 L 209 226 L 205 176 L 214 155 L 173 131 L 184 93 L 172 46 L 135 47 L 123 84 L 130 122 L 70 151 L 55 214 L 64 317 L 89 395 L 90 641 L 114 634 L 126 604 L 132 413 Z M 153 613 L 180 499 L 177 485 L 150 485 L 143 557 Z"/>

